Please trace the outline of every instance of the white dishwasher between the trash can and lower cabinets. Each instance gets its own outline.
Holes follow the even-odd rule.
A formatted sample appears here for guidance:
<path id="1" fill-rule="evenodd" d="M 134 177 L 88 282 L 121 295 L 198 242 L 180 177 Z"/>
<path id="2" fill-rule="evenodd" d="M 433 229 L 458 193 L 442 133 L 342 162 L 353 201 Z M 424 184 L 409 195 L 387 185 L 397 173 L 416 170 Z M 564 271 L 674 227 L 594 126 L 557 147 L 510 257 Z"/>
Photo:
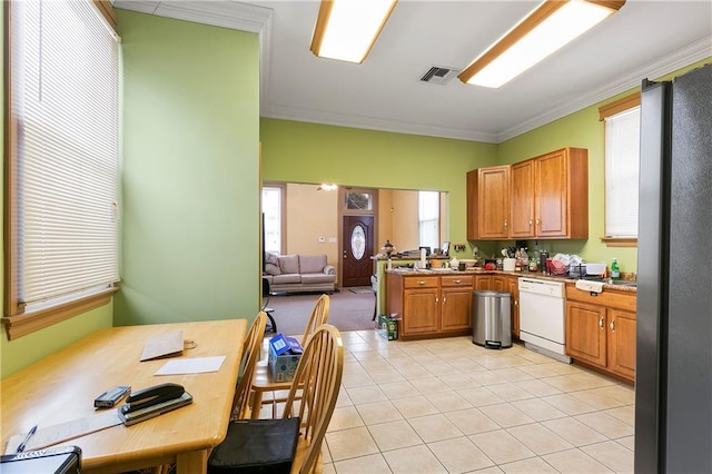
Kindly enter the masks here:
<path id="1" fill-rule="evenodd" d="M 564 288 L 563 282 L 520 278 L 520 338 L 526 348 L 570 364 Z"/>

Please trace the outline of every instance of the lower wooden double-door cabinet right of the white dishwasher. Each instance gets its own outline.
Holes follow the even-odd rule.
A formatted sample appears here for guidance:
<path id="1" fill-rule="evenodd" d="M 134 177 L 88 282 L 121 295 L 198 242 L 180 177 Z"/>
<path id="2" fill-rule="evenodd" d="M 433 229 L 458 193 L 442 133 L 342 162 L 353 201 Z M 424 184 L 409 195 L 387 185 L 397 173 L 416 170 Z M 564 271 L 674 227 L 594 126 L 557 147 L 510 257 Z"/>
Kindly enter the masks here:
<path id="1" fill-rule="evenodd" d="M 566 354 L 633 382 L 635 294 L 566 287 Z"/>

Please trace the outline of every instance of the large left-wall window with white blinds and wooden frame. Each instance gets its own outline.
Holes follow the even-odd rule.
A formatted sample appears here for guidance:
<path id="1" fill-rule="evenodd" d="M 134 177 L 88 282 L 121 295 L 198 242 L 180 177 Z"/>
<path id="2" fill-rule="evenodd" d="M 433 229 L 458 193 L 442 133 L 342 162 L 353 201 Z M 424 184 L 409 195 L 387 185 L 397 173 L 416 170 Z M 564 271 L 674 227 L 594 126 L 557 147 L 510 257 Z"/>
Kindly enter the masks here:
<path id="1" fill-rule="evenodd" d="M 118 271 L 119 46 L 106 4 L 9 8 L 9 338 L 107 304 Z"/>

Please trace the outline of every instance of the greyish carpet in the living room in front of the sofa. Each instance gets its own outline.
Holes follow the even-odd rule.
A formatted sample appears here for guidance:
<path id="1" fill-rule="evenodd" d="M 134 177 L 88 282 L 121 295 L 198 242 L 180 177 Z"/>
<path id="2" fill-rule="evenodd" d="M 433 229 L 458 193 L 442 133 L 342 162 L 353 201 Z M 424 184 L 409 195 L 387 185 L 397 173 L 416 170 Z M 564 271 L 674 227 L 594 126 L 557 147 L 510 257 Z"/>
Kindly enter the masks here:
<path id="1" fill-rule="evenodd" d="M 274 309 L 277 330 L 288 336 L 301 336 L 319 296 L 319 293 L 270 296 L 268 306 Z M 328 324 L 342 332 L 373 329 L 375 305 L 376 296 L 373 292 L 334 293 L 329 295 Z"/>

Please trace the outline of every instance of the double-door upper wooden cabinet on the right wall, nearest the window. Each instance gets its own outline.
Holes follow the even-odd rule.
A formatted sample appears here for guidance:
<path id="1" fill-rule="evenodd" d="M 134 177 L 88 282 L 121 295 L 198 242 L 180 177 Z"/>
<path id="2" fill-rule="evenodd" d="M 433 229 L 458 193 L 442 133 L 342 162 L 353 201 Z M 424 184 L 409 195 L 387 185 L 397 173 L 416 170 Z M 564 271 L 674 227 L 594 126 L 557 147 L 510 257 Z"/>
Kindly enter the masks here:
<path id="1" fill-rule="evenodd" d="M 589 237 L 589 152 L 563 148 L 511 167 L 512 238 Z"/>

